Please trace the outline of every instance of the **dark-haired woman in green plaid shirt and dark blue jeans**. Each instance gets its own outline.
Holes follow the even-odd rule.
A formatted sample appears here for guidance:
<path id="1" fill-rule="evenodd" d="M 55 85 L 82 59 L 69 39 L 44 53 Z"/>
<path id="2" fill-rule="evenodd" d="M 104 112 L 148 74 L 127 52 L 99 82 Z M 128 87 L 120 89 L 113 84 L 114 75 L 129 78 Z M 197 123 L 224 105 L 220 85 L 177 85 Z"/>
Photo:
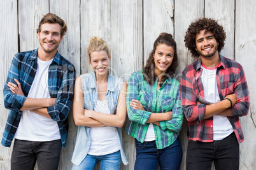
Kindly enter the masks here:
<path id="1" fill-rule="evenodd" d="M 143 70 L 132 73 L 127 87 L 126 128 L 135 138 L 134 169 L 180 169 L 178 138 L 183 110 L 180 82 L 172 77 L 178 58 L 171 34 L 161 33 Z"/>

